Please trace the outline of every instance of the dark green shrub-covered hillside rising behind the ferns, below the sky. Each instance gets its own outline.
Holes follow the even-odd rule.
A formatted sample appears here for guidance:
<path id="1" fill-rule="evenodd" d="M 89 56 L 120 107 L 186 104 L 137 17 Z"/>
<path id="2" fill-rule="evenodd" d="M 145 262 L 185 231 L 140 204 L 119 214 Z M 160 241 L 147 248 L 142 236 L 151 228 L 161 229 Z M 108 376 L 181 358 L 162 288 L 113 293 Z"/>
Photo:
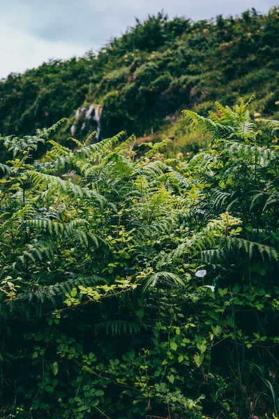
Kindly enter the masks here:
<path id="1" fill-rule="evenodd" d="M 0 82 L 0 133 L 33 135 L 69 117 L 74 135 L 85 140 L 96 128 L 95 113 L 86 112 L 102 105 L 103 138 L 122 129 L 144 135 L 183 108 L 206 115 L 216 100 L 233 105 L 252 94 L 256 115 L 278 118 L 278 17 L 278 8 L 199 22 L 159 13 L 98 54 L 11 74 Z M 56 140 L 69 135 L 66 126 Z"/>

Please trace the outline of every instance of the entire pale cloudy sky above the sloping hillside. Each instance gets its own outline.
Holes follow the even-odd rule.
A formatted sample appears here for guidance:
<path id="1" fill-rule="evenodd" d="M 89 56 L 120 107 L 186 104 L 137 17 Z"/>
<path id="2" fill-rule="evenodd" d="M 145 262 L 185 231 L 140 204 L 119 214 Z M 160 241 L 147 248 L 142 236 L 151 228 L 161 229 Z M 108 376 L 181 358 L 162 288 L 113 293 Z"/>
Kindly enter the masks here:
<path id="1" fill-rule="evenodd" d="M 49 59 L 98 51 L 133 26 L 135 17 L 164 10 L 192 20 L 262 13 L 276 0 L 0 0 L 0 79 Z"/>

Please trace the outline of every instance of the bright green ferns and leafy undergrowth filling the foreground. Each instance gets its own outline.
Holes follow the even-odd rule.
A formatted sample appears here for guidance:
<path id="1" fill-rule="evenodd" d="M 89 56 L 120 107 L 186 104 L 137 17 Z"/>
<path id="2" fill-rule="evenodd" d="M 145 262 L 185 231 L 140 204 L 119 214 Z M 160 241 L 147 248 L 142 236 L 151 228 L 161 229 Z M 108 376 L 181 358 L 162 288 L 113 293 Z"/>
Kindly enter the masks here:
<path id="1" fill-rule="evenodd" d="M 2 138 L 1 418 L 278 416 L 279 149 L 216 108 L 190 161 Z"/>

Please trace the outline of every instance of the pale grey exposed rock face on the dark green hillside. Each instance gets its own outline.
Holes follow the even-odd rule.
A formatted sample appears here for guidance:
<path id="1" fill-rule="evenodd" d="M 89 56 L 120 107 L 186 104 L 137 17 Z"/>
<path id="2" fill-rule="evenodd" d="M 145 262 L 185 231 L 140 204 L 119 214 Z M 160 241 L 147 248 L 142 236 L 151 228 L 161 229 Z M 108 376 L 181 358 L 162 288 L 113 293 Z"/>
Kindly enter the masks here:
<path id="1" fill-rule="evenodd" d="M 75 137 L 78 133 L 82 138 L 88 137 L 93 131 L 96 131 L 96 135 L 93 140 L 101 140 L 101 128 L 100 128 L 100 116 L 102 114 L 102 106 L 91 104 L 89 106 L 82 106 L 75 112 L 75 118 L 73 124 L 70 126 L 70 135 Z M 91 140 L 92 141 L 92 140 Z"/>

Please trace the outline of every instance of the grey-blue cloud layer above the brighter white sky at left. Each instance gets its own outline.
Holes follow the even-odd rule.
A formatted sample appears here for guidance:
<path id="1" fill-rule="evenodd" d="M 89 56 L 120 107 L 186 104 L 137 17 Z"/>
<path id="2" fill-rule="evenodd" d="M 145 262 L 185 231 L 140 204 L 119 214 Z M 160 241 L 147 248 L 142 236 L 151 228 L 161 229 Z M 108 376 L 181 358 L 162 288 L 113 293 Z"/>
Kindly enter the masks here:
<path id="1" fill-rule="evenodd" d="M 101 45 L 125 31 L 135 17 L 143 19 L 162 9 L 171 17 L 197 20 L 252 7 L 265 11 L 271 4 L 271 0 L 9 0 L 0 2 L 0 21 L 44 40 Z"/>

